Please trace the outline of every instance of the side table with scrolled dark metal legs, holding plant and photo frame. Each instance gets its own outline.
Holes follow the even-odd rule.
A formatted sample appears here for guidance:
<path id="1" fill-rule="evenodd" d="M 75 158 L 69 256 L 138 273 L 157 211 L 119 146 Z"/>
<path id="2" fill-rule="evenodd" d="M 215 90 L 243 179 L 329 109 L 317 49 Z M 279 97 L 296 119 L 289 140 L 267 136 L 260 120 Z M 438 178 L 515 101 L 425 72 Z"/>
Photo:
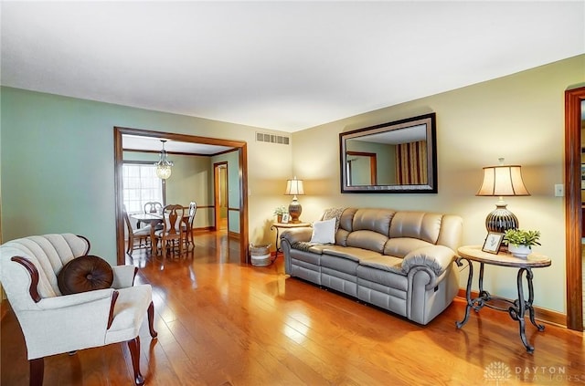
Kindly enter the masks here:
<path id="1" fill-rule="evenodd" d="M 469 276 L 467 277 L 467 288 L 465 292 L 465 297 L 467 299 L 467 307 L 465 308 L 465 317 L 462 321 L 458 321 L 455 323 L 458 329 L 461 329 L 467 320 L 469 319 L 469 314 L 471 309 L 473 308 L 476 312 L 478 312 L 481 308 L 489 307 L 494 308 L 500 311 L 506 311 L 510 314 L 510 317 L 518 322 L 520 328 L 520 339 L 522 339 L 522 343 L 526 347 L 528 353 L 534 352 L 534 347 L 530 346 L 527 341 L 526 335 L 526 322 L 524 320 L 524 315 L 528 312 L 530 322 L 538 329 L 538 331 L 543 331 L 545 326 L 542 324 L 537 324 L 534 316 L 534 308 L 532 307 L 532 302 L 534 300 L 534 289 L 532 287 L 532 268 L 541 268 L 545 266 L 550 266 L 550 259 L 547 256 L 537 255 L 537 254 L 530 254 L 527 256 L 526 259 L 518 258 L 512 256 L 506 252 L 500 252 L 497 255 L 489 254 L 487 252 L 482 251 L 481 245 L 467 245 L 462 246 L 457 249 L 457 253 L 459 257 L 457 258 L 457 265 L 463 266 L 462 260 L 467 260 L 469 264 Z M 473 264 L 472 262 L 477 262 L 480 264 L 479 267 L 479 296 L 472 298 L 472 280 L 473 280 Z M 509 266 L 512 268 L 517 268 L 518 273 L 516 276 L 516 287 L 518 291 L 518 298 L 516 300 L 508 300 L 504 297 L 496 297 L 491 295 L 489 292 L 484 290 L 484 265 L 489 264 L 492 266 Z M 528 286 L 528 299 L 524 297 L 524 276 L 526 276 L 527 286 Z M 501 308 L 496 307 L 493 304 L 489 304 L 490 300 L 500 300 L 506 303 L 509 303 L 510 306 L 508 308 Z"/>

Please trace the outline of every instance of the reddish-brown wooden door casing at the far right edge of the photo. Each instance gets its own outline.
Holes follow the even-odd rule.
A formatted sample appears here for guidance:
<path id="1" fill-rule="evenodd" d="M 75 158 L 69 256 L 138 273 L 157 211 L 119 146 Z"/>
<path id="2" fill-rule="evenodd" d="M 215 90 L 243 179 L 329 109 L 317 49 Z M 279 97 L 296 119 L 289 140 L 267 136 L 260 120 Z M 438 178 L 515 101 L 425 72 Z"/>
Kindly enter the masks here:
<path id="1" fill-rule="evenodd" d="M 583 330 L 581 245 L 581 101 L 585 87 L 565 91 L 565 247 L 567 255 L 567 327 Z"/>

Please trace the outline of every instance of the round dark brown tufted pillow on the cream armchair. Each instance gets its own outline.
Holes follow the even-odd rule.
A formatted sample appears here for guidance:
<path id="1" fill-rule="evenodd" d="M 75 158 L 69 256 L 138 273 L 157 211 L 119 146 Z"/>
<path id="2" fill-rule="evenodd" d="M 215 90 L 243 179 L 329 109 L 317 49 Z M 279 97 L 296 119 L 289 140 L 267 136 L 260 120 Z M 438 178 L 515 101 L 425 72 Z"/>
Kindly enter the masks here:
<path id="1" fill-rule="evenodd" d="M 101 257 L 91 255 L 69 261 L 57 276 L 58 289 L 63 295 L 109 288 L 112 282 L 112 266 Z"/>

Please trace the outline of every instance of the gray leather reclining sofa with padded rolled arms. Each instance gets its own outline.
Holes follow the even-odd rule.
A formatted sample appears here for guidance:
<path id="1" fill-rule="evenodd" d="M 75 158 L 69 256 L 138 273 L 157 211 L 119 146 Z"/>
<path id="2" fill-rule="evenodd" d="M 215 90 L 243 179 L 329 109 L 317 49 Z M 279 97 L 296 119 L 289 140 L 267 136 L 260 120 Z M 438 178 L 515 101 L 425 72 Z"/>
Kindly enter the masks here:
<path id="1" fill-rule="evenodd" d="M 285 272 L 425 325 L 457 295 L 462 228 L 452 214 L 346 208 L 335 244 L 309 243 L 312 228 L 282 232 Z"/>

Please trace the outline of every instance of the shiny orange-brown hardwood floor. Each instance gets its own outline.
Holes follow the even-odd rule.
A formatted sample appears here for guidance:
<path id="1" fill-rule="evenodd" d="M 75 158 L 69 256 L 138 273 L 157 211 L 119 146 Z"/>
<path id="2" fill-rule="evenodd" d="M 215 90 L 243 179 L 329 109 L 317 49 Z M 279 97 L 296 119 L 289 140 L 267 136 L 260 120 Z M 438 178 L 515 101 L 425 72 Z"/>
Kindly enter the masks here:
<path id="1" fill-rule="evenodd" d="M 188 256 L 163 265 L 144 252 L 137 282 L 153 286 L 155 326 L 141 329 L 150 385 L 516 385 L 585 382 L 583 334 L 517 323 L 484 308 L 463 329 L 463 300 L 422 327 L 295 278 L 282 256 L 266 267 L 239 264 L 239 245 L 197 233 Z M 230 247 L 231 246 L 231 247 Z M 535 284 L 538 277 L 536 274 Z M 1 384 L 26 385 L 27 353 L 3 303 Z M 124 344 L 45 360 L 46 385 L 132 384 Z"/>

